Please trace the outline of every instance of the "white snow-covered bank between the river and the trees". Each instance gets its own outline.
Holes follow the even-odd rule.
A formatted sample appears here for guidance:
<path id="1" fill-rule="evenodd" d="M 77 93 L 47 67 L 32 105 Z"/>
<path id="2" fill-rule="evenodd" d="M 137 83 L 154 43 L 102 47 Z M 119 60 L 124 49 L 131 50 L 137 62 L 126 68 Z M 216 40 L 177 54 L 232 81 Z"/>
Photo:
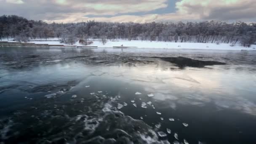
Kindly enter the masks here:
<path id="1" fill-rule="evenodd" d="M 12 39 L 9 39 L 12 40 Z M 49 45 L 63 45 L 57 38 L 51 38 L 41 41 L 40 39 L 32 40 L 29 43 L 36 44 L 49 44 Z M 7 41 L 7 40 L 2 40 Z M 10 41 L 13 42 L 13 41 Z M 84 46 L 80 43 L 75 43 L 76 46 Z M 231 46 L 226 43 L 173 43 L 173 42 L 159 42 L 159 41 L 141 41 L 141 40 L 108 40 L 104 45 L 100 40 L 93 40 L 93 44 L 87 46 L 97 46 L 100 48 L 113 48 L 113 47 L 132 47 L 132 48 L 167 48 L 167 49 L 202 49 L 202 50 L 228 50 L 228 51 L 241 51 L 241 50 L 256 50 L 256 45 L 250 48 L 245 48 L 240 44 Z"/>

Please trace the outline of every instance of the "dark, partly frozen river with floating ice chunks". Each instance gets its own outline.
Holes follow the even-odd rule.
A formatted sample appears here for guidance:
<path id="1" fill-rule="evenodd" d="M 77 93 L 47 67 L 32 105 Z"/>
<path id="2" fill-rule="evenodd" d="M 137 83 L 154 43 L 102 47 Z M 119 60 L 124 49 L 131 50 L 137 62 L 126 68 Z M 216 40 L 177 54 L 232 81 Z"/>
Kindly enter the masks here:
<path id="1" fill-rule="evenodd" d="M 178 56 L 221 65 L 157 59 Z M 255 133 L 255 52 L 0 49 L 3 144 L 255 144 Z"/>

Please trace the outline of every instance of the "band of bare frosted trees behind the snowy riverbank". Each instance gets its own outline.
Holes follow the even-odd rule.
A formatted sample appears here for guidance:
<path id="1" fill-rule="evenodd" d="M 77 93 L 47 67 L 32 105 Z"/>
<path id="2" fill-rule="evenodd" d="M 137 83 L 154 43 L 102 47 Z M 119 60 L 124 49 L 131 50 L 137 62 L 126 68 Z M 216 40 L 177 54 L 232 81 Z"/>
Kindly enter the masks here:
<path id="1" fill-rule="evenodd" d="M 19 16 L 0 16 L 0 40 L 15 37 L 18 41 L 59 37 L 65 43 L 77 40 L 128 39 L 165 42 L 229 43 L 249 47 L 256 43 L 256 23 L 222 21 L 168 23 L 112 23 L 87 21 L 47 24 Z"/>

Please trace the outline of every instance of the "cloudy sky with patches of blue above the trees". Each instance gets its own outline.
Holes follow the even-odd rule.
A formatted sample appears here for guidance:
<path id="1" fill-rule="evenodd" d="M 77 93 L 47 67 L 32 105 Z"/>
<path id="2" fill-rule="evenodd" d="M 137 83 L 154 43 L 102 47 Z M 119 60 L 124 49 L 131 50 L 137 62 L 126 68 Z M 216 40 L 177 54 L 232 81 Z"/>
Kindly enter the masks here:
<path id="1" fill-rule="evenodd" d="M 256 0 L 0 0 L 0 15 L 4 14 L 48 23 L 256 22 Z"/>

